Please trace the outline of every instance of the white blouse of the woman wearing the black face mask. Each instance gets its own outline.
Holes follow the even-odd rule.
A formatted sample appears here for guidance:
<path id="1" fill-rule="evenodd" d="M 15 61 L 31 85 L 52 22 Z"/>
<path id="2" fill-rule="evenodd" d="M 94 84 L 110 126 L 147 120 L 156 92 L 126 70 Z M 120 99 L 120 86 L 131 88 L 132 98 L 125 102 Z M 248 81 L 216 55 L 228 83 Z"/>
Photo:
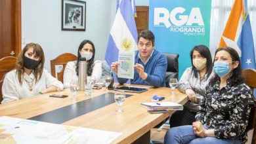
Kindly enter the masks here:
<path id="1" fill-rule="evenodd" d="M 30 80 L 30 83 L 28 80 Z M 39 92 L 50 86 L 56 86 L 58 90 L 63 90 L 62 82 L 54 78 L 46 69 L 43 69 L 41 79 L 39 79 L 37 83 L 35 83 L 35 76 L 33 73 L 30 75 L 24 73 L 22 84 L 18 81 L 18 75 L 16 74 L 16 69 L 14 69 L 5 75 L 2 86 L 3 101 L 1 103 L 8 103 L 10 101 L 36 96 Z M 32 88 L 32 91 L 30 91 L 30 87 Z"/>

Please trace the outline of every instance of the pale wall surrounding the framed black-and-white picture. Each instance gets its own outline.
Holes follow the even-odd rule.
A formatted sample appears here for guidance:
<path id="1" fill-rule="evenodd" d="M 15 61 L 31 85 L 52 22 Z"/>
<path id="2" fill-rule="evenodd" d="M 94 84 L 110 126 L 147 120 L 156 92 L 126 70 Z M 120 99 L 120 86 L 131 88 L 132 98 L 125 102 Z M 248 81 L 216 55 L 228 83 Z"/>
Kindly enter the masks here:
<path id="1" fill-rule="evenodd" d="M 93 41 L 96 60 L 104 60 L 116 0 L 87 0 L 85 31 L 61 30 L 61 3 L 61 0 L 22 0 L 22 45 L 39 43 L 49 71 L 50 60 L 64 52 L 76 55 L 83 39 Z"/>

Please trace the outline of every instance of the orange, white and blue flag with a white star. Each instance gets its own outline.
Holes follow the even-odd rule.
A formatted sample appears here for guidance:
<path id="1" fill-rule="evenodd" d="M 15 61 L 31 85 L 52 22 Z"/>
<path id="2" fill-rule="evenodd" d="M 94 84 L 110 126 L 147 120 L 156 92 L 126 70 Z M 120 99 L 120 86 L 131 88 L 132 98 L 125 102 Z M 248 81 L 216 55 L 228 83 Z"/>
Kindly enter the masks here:
<path id="1" fill-rule="evenodd" d="M 236 0 L 221 37 L 219 47 L 230 46 L 238 52 L 242 69 L 256 69 L 253 34 L 247 0 Z"/>

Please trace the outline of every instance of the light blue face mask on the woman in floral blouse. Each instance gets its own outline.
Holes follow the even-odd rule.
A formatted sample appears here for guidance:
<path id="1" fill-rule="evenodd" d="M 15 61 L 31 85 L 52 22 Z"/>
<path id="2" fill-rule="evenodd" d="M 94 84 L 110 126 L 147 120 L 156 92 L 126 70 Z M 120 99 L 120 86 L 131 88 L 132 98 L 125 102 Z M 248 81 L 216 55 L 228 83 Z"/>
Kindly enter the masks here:
<path id="1" fill-rule="evenodd" d="M 214 63 L 213 69 L 219 77 L 224 77 L 230 73 L 232 69 L 228 67 L 230 62 L 218 61 Z"/>

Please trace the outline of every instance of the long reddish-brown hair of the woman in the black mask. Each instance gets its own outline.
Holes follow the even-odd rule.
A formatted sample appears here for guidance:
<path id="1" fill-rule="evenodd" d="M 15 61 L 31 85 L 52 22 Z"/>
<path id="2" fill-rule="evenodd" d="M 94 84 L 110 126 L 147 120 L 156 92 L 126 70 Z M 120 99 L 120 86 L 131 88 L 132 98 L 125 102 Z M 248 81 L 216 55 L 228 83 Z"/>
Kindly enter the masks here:
<path id="1" fill-rule="evenodd" d="M 28 43 L 20 52 L 18 55 L 18 60 L 16 62 L 16 74 L 18 75 L 18 81 L 20 84 L 22 84 L 22 79 L 24 75 L 24 60 L 23 56 L 27 52 L 28 48 L 33 48 L 33 54 L 38 56 L 39 59 L 39 64 L 37 67 L 33 68 L 33 75 L 35 75 L 35 82 L 39 81 L 41 79 L 42 74 L 43 74 L 43 65 L 45 63 L 45 54 L 43 53 L 43 48 L 37 43 Z M 39 76 L 39 77 L 38 77 Z"/>

